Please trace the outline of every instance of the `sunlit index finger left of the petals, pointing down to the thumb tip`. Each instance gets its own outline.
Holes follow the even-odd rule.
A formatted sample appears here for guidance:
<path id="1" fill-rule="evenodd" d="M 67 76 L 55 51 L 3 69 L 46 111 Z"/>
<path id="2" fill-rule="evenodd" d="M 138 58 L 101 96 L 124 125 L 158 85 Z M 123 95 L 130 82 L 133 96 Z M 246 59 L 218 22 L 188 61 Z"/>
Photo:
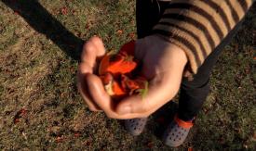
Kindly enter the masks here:
<path id="1" fill-rule="evenodd" d="M 101 79 L 93 74 L 88 74 L 88 91 L 92 100 L 106 113 L 109 118 L 116 118 L 114 112 L 115 104 L 113 103 L 109 94 L 106 93 Z"/>

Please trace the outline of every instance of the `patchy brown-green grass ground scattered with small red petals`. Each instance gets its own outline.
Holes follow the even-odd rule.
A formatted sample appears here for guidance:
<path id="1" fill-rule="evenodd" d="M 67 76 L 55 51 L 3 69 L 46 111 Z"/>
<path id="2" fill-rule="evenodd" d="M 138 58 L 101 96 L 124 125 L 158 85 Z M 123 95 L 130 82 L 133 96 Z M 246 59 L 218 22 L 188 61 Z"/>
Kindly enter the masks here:
<path id="1" fill-rule="evenodd" d="M 208 101 L 179 148 L 159 140 L 173 103 L 132 137 L 122 122 L 90 112 L 75 87 L 83 40 L 97 34 L 117 50 L 134 38 L 134 1 L 3 0 L 0 12 L 0 150 L 256 148 L 255 5 L 225 47 Z"/>

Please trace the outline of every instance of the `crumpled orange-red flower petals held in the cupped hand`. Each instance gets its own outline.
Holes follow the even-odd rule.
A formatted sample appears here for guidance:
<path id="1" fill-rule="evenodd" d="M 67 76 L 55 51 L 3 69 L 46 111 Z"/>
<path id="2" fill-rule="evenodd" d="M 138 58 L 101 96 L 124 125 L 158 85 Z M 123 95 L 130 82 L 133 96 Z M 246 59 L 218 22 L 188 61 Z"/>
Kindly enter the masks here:
<path id="1" fill-rule="evenodd" d="M 99 66 L 99 76 L 105 90 L 113 98 L 121 99 L 130 94 L 144 94 L 147 80 L 141 76 L 132 77 L 131 72 L 138 68 L 134 58 L 135 42 L 124 44 L 116 55 L 110 53 L 102 57 Z M 138 73 L 134 73 L 138 74 Z"/>

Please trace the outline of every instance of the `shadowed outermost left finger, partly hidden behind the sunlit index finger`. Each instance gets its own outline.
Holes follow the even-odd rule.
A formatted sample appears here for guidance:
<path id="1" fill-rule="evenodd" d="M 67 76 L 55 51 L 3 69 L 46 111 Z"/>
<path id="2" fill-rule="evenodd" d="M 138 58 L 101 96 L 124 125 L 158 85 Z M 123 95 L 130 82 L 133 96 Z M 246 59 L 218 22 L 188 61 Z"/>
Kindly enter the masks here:
<path id="1" fill-rule="evenodd" d="M 77 88 L 88 105 L 88 108 L 91 111 L 100 111 L 101 108 L 91 101 L 91 96 L 88 94 L 88 84 L 86 83 L 86 76 L 88 73 L 92 73 L 92 69 L 88 66 L 88 64 L 81 63 L 77 72 Z"/>

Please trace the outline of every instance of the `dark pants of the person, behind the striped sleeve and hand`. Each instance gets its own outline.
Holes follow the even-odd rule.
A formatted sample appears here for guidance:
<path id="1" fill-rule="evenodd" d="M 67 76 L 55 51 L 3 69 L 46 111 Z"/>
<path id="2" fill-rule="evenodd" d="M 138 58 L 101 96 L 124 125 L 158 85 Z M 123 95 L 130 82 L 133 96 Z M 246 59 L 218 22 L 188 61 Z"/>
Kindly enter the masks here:
<path id="1" fill-rule="evenodd" d="M 156 0 L 137 0 L 136 20 L 138 38 L 152 34 L 152 28 L 161 18 L 168 2 L 159 2 Z M 192 120 L 200 111 L 203 103 L 209 94 L 209 76 L 211 69 L 217 62 L 222 49 L 228 44 L 236 34 L 241 22 L 234 30 L 222 40 L 215 50 L 207 57 L 203 65 L 198 69 L 193 81 L 182 79 L 181 95 L 179 100 L 178 116 L 182 120 Z"/>

